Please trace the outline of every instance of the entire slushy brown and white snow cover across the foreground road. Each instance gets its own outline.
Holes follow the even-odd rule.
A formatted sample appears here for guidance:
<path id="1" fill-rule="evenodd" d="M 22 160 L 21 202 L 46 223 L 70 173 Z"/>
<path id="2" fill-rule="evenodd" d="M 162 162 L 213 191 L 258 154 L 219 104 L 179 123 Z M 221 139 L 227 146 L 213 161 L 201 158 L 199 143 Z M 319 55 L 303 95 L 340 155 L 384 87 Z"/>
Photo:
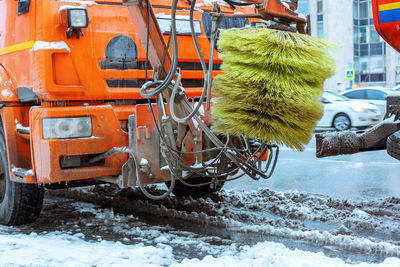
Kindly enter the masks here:
<path id="1" fill-rule="evenodd" d="M 364 162 L 357 174 L 375 175 L 364 169 L 371 163 L 362 157 L 349 158 L 330 164 L 349 172 Z M 394 163 L 379 156 L 373 164 Z M 239 189 L 248 191 L 222 190 L 200 199 L 152 201 L 137 188 L 110 185 L 50 191 L 36 223 L 0 227 L 0 266 L 14 264 L 9 259 L 15 250 L 26 255 L 17 265 L 40 266 L 400 266 L 398 191 L 387 184 L 371 194 L 364 188 L 370 180 L 350 173 L 358 182 L 357 194 L 350 196 L 332 192 L 334 186 L 317 191 L 323 193 L 301 191 L 307 187 L 296 183 L 305 183 L 303 177 L 292 180 L 299 190 L 249 191 L 243 180 Z M 329 179 L 321 182 L 330 185 Z M 377 182 L 387 183 L 384 177 Z M 161 194 L 165 186 L 148 190 Z M 61 256 L 59 246 L 65 247 Z"/>

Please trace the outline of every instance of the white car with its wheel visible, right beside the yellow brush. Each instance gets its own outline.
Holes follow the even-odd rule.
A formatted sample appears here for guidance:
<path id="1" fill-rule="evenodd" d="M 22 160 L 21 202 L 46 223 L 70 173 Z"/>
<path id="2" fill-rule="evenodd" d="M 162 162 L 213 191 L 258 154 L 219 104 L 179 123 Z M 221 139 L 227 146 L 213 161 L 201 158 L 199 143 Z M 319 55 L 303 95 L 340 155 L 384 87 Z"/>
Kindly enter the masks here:
<path id="1" fill-rule="evenodd" d="M 324 104 L 324 116 L 318 122 L 317 129 L 334 128 L 344 131 L 352 127 L 367 128 L 381 118 L 375 105 L 353 101 L 334 92 L 325 91 L 321 101 Z"/>

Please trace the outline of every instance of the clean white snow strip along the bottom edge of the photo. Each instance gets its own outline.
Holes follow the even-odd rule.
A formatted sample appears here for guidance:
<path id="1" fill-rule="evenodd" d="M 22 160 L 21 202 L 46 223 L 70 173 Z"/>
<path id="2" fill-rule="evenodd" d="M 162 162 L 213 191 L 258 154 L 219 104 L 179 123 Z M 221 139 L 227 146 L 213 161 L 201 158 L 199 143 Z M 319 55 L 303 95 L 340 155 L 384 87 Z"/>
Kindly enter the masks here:
<path id="1" fill-rule="evenodd" d="M 254 246 L 227 246 L 220 256 L 179 261 L 171 246 L 165 243 L 171 234 L 157 236 L 155 246 L 143 243 L 133 245 L 120 241 L 85 241 L 84 234 L 51 232 L 8 233 L 0 227 L 0 265 L 26 266 L 399 266 L 400 259 L 387 258 L 380 264 L 360 263 L 353 265 L 338 258 L 327 257 L 322 252 L 314 253 L 291 250 L 283 244 L 262 242 Z M 139 230 L 140 231 L 140 230 Z M 149 233 L 146 233 L 147 235 Z M 127 240 L 127 239 L 126 239 Z M 23 255 L 23 256 L 21 256 Z"/>

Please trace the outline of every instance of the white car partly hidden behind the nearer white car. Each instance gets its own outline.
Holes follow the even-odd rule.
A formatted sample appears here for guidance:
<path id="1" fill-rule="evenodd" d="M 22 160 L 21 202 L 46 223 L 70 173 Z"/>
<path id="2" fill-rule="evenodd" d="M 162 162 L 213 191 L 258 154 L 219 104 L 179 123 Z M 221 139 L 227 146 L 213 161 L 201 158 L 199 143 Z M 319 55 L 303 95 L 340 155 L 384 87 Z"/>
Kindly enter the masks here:
<path id="1" fill-rule="evenodd" d="M 380 119 L 382 120 L 386 114 L 386 98 L 391 92 L 394 91 L 379 87 L 364 87 L 347 90 L 340 94 L 353 100 L 362 101 L 377 106 L 381 111 Z"/>

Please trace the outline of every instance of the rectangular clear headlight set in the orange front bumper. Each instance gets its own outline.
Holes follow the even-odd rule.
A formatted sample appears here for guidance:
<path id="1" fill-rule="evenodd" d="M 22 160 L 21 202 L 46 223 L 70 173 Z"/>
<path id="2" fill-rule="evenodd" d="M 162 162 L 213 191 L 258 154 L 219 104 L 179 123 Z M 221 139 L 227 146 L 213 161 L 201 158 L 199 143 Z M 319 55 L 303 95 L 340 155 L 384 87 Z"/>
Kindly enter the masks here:
<path id="1" fill-rule="evenodd" d="M 44 118 L 43 138 L 82 138 L 92 136 L 92 119 L 90 117 Z"/>

